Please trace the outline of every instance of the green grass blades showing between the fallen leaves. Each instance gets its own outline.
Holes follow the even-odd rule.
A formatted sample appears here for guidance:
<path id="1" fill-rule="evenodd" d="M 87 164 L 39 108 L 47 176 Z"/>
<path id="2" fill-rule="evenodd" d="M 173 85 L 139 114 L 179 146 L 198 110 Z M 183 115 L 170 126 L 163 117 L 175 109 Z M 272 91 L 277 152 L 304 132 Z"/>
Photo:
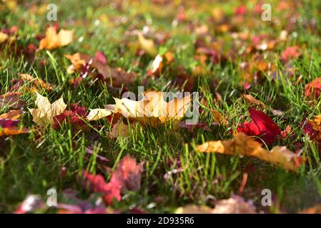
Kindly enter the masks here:
<path id="1" fill-rule="evenodd" d="M 6 53 L 4 48 L 6 55 L 3 56 L 9 57 L 4 58 L 0 55 L 1 94 L 9 90 L 12 86 L 11 80 L 18 78 L 19 73 L 30 73 L 54 86 L 51 93 L 41 90 L 41 94 L 46 95 L 51 102 L 63 95 L 67 104 L 79 102 L 79 105 L 87 108 L 103 108 L 104 104 L 113 102 L 112 97 L 119 98 L 119 92 L 98 81 L 91 86 L 85 86 L 85 83 L 79 88 L 70 86 L 69 79 L 76 77 L 77 73 L 66 73 L 66 67 L 70 63 L 64 58 L 64 54 L 83 52 L 94 55 L 95 51 L 102 51 L 112 67 L 121 67 L 139 75 L 135 85 L 129 87 L 129 90 L 136 91 L 137 86 L 142 85 L 144 78 L 147 78 L 147 68 L 153 58 L 148 55 L 137 58 L 134 55 L 134 51 L 127 44 L 136 41 L 137 38 L 129 36 L 128 32 L 133 29 L 141 30 L 150 21 L 150 28 L 167 32 L 172 36 L 159 47 L 159 51 L 166 48 L 174 53 L 171 68 L 177 69 L 182 66 L 192 75 L 194 67 L 199 66 L 199 61 L 194 58 L 197 35 L 187 29 L 188 24 L 208 24 L 209 33 L 215 38 L 222 38 L 223 48 L 229 50 L 232 48 L 231 34 L 218 33 L 214 26 L 211 26 L 209 17 L 214 6 L 224 9 L 227 15 L 232 15 L 233 7 L 241 4 L 240 1 L 236 1 L 237 4 L 234 4 L 234 1 L 219 1 L 217 4 L 202 1 L 197 7 L 192 7 L 192 3 L 187 1 L 185 4 L 188 21 L 171 26 L 176 16 L 176 8 L 154 6 L 148 1 L 124 1 L 122 6 L 99 4 L 99 1 L 68 1 L 68 4 L 64 2 L 66 1 L 56 1 L 59 8 L 59 26 L 74 29 L 74 42 L 54 51 L 36 52 L 36 60 L 31 64 L 26 63 L 26 59 L 22 57 L 14 58 L 14 55 Z M 280 31 L 290 22 L 287 14 L 277 10 L 277 1 L 270 2 L 272 21 L 261 21 L 259 15 L 255 21 L 249 19 L 254 24 L 249 24 L 249 21 L 239 24 L 237 31 L 249 28 L 251 34 L 267 33 L 277 38 Z M 307 162 L 297 173 L 287 172 L 253 158 L 199 154 L 194 151 L 194 146 L 204 141 L 231 138 L 231 130 L 247 118 L 249 105 L 241 96 L 245 90 L 241 86 L 242 77 L 238 63 L 247 61 L 248 56 L 238 56 L 235 61 L 218 64 L 207 62 L 206 75 L 195 76 L 197 83 L 194 90 L 202 92 L 209 108 L 216 108 L 229 120 L 228 126 L 212 126 L 214 117 L 208 108 L 203 107 L 204 112 L 200 115 L 199 121 L 207 123 L 212 132 L 197 129 L 189 133 L 184 128 L 176 129 L 167 124 L 159 128 L 137 128 L 129 138 L 114 140 L 106 137 L 106 130 L 110 130 L 107 120 L 99 120 L 100 125 L 105 125 L 102 130 L 97 129 L 93 123 L 88 123 L 88 130 L 74 130 L 71 125 L 65 124 L 59 130 L 46 128 L 39 135 L 30 113 L 26 112 L 21 118 L 21 123 L 31 129 L 31 133 L 0 138 L 0 212 L 13 212 L 28 194 L 39 194 L 46 200 L 46 191 L 51 187 L 56 188 L 59 200 L 65 189 L 77 190 L 79 197 L 87 198 L 89 192 L 82 188 L 82 170 L 102 172 L 107 180 L 110 176 L 93 156 L 86 154 L 85 147 L 92 145 L 97 145 L 97 152 L 110 160 L 108 166 L 112 168 L 115 168 L 119 159 L 127 154 L 135 157 L 137 161 L 144 162 L 141 190 L 127 192 L 121 202 L 112 205 L 114 209 L 123 212 L 134 207 L 146 212 L 173 212 L 175 208 L 185 204 L 211 205 L 211 197 L 224 199 L 237 194 L 242 173 L 251 164 L 255 166 L 255 172 L 249 173 L 242 197 L 252 199 L 258 209 L 279 212 L 277 206 L 261 206 L 261 191 L 266 188 L 277 197 L 275 205 L 280 205 L 286 212 L 299 212 L 301 209 L 320 204 L 320 153 L 317 145 L 302 134 L 300 123 L 304 118 L 321 114 L 320 99 L 309 103 L 304 96 L 305 83 L 320 77 L 321 72 L 321 17 L 320 11 L 317 11 L 321 4 L 318 1 L 300 2 L 302 7 L 295 11 L 303 20 L 315 19 L 315 29 L 296 24 L 285 43 L 266 52 L 266 58 L 282 70 L 280 53 L 287 46 L 300 46 L 302 56 L 294 62 L 297 68 L 295 76 L 281 74 L 280 78 L 272 80 L 270 76 L 264 75 L 262 84 L 254 84 L 250 88 L 250 94 L 267 105 L 265 113 L 270 115 L 282 130 L 290 125 L 292 131 L 297 133 L 295 138 L 277 141 L 275 145 L 287 145 L 290 150 L 296 150 L 294 142 L 302 142 L 302 154 L 307 158 Z M 102 20 L 102 15 L 108 20 Z M 99 23 L 97 20 L 100 20 Z M 276 24 L 276 20 L 280 23 Z M 44 33 L 46 25 L 50 24 L 46 21 L 46 14 L 32 13 L 24 4 L 19 4 L 15 11 L 1 11 L 0 21 L 1 28 L 14 25 L 19 27 L 20 39 L 17 42 L 22 46 L 36 43 L 36 34 Z M 39 64 L 42 59 L 46 59 L 44 68 Z M 133 64 L 134 61 L 137 61 L 137 64 Z M 167 69 L 159 78 L 149 81 L 145 88 L 173 90 L 169 88 L 168 82 L 176 76 Z M 300 76 L 302 79 L 297 83 Z M 214 86 L 214 81 L 217 86 Z M 32 86 L 31 83 L 25 83 L 23 87 Z M 222 96 L 222 101 L 214 101 L 214 92 Z M 26 107 L 34 108 L 34 93 L 24 90 L 22 98 L 27 103 Z M 274 116 L 268 108 L 281 109 L 284 113 Z M 9 108 L 3 108 L 0 114 L 8 110 Z M 26 108 L 25 110 L 27 111 Z M 97 135 L 97 140 L 93 140 L 94 134 Z M 175 167 L 168 161 L 174 159 L 182 162 L 184 171 L 164 180 L 163 175 Z M 60 175 L 61 167 L 67 169 L 64 177 Z"/>

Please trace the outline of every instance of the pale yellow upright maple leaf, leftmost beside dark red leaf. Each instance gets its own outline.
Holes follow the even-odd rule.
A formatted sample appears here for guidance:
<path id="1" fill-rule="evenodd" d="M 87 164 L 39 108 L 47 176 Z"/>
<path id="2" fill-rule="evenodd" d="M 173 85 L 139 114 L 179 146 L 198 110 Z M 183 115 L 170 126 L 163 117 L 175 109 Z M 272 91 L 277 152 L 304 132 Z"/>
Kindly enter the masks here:
<path id="1" fill-rule="evenodd" d="M 50 103 L 48 98 L 36 92 L 36 105 L 38 108 L 28 108 L 33 117 L 34 123 L 41 126 L 54 123 L 54 116 L 64 113 L 66 104 L 64 98 L 59 98 L 54 103 Z"/>

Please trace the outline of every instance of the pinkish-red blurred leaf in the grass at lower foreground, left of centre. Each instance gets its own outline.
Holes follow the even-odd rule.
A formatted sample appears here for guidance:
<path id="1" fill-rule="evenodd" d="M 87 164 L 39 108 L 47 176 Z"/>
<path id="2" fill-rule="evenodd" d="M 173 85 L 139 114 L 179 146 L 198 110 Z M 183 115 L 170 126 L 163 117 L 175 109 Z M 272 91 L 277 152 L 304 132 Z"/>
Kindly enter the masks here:
<path id="1" fill-rule="evenodd" d="M 108 183 L 102 175 L 92 175 L 86 171 L 83 174 L 92 190 L 102 192 L 104 201 L 111 204 L 113 199 L 120 201 L 122 190 L 139 190 L 142 171 L 142 164 L 137 165 L 136 161 L 127 155 L 119 162 Z"/>

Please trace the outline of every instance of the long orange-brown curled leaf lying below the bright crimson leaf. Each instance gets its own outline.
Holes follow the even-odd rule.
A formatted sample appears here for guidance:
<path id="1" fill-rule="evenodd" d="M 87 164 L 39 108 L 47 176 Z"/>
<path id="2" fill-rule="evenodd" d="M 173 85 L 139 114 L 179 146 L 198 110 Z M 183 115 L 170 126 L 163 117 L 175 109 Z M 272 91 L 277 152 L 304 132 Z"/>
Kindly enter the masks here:
<path id="1" fill-rule="evenodd" d="M 202 145 L 198 145 L 196 150 L 197 152 L 217 152 L 224 155 L 257 157 L 285 170 L 297 170 L 302 162 L 302 157 L 291 152 L 287 147 L 275 146 L 270 151 L 265 150 L 261 147 L 260 142 L 256 142 L 244 133 L 236 133 L 231 140 L 204 142 Z"/>

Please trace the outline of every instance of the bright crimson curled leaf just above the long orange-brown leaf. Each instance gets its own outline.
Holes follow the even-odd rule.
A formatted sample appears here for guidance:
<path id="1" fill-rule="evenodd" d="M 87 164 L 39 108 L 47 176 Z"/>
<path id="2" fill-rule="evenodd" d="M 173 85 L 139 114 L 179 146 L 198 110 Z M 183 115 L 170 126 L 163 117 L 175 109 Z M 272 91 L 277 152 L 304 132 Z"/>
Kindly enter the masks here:
<path id="1" fill-rule="evenodd" d="M 267 145 L 275 142 L 281 134 L 281 130 L 277 124 L 274 123 L 267 114 L 259 110 L 251 108 L 249 113 L 252 122 L 245 121 L 245 123 L 239 124 L 237 132 L 242 132 L 250 136 L 258 136 L 265 141 Z"/>

